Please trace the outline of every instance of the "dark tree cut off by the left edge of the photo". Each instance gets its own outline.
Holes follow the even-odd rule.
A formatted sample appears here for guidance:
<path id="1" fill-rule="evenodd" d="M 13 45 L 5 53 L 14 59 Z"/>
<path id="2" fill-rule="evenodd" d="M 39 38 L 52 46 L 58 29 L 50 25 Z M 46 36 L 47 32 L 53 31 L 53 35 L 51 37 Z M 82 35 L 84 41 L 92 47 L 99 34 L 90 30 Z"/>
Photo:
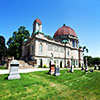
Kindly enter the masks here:
<path id="1" fill-rule="evenodd" d="M 7 48 L 5 46 L 5 38 L 3 36 L 0 36 L 0 60 L 3 56 L 6 56 Z"/>

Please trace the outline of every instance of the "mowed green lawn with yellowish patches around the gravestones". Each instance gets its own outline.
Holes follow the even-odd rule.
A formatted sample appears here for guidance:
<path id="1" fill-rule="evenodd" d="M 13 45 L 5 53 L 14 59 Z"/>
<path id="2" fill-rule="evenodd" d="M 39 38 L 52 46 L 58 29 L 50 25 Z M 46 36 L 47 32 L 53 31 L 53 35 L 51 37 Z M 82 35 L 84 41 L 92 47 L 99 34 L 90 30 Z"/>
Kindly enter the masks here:
<path id="1" fill-rule="evenodd" d="M 47 72 L 21 74 L 20 80 L 0 75 L 0 100 L 100 100 L 100 72 Z"/>

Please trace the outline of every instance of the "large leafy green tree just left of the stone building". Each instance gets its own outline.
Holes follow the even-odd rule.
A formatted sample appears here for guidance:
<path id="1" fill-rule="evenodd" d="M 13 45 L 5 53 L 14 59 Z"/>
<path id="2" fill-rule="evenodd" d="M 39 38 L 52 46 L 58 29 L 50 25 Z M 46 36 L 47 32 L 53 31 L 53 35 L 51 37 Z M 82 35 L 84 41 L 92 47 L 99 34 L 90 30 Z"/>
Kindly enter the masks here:
<path id="1" fill-rule="evenodd" d="M 9 56 L 14 56 L 15 59 L 20 59 L 22 56 L 22 43 L 25 39 L 28 39 L 29 36 L 29 31 L 26 30 L 24 26 L 20 26 L 18 32 L 13 32 L 12 37 L 10 37 L 7 42 Z"/>

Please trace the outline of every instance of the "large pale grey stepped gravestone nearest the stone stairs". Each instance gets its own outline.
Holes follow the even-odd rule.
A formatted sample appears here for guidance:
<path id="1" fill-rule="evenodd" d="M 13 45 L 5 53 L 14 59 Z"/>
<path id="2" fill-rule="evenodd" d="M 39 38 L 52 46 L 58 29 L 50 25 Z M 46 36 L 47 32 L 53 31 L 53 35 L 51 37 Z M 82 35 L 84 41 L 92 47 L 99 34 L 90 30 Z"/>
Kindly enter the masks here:
<path id="1" fill-rule="evenodd" d="M 8 76 L 8 80 L 11 79 L 20 79 L 20 74 L 19 74 L 19 63 L 17 60 L 12 60 L 10 63 L 10 73 Z"/>

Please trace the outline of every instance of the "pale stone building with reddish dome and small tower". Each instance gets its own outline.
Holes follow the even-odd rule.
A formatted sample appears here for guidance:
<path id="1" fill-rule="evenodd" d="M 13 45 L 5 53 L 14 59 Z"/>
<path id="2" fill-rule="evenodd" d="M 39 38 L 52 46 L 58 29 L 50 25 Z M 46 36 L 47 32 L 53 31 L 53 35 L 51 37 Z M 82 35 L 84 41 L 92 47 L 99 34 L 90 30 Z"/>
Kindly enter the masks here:
<path id="1" fill-rule="evenodd" d="M 70 67 L 71 64 L 78 67 L 83 64 L 83 50 L 71 27 L 64 24 L 51 38 L 42 33 L 42 22 L 37 18 L 33 22 L 31 38 L 23 43 L 22 58 L 36 61 L 36 67 L 49 67 L 53 62 L 59 67 Z"/>

